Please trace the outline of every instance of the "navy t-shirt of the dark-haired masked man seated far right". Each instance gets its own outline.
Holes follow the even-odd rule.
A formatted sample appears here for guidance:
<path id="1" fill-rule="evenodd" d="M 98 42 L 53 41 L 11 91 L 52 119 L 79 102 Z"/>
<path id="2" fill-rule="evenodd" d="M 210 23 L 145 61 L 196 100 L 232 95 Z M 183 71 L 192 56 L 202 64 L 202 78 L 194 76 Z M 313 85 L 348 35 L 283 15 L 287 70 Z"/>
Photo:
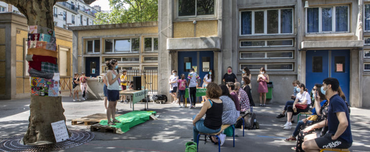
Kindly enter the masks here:
<path id="1" fill-rule="evenodd" d="M 352 143 L 351 123 L 349 120 L 349 112 L 346 102 L 338 95 L 334 95 L 330 98 L 329 110 L 327 112 L 327 125 L 329 127 L 329 133 L 335 134 L 339 126 L 339 120 L 337 112 L 346 112 L 348 121 L 347 129 L 343 132 L 339 138 L 346 140 L 348 143 Z"/>

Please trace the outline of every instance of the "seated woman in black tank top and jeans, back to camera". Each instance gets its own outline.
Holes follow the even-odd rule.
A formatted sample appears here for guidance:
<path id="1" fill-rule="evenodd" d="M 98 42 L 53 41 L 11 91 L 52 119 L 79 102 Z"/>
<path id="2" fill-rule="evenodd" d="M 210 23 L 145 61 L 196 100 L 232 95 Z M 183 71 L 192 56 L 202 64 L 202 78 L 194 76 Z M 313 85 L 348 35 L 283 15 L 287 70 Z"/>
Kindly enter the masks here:
<path id="1" fill-rule="evenodd" d="M 198 115 L 193 116 L 193 138 L 197 141 L 199 132 L 211 134 L 217 133 L 221 130 L 222 115 L 223 115 L 223 101 L 219 99 L 222 91 L 215 83 L 207 85 L 206 97 L 208 101 L 204 102 L 202 109 Z M 206 115 L 205 119 L 202 117 Z"/>

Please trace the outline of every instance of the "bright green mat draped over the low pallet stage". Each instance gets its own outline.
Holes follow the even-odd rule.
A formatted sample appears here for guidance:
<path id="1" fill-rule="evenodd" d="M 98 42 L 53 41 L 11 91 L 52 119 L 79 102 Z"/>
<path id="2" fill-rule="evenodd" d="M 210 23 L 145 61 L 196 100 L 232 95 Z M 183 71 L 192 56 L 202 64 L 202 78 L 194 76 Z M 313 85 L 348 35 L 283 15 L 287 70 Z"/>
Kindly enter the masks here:
<path id="1" fill-rule="evenodd" d="M 112 127 L 116 127 L 116 132 L 119 134 L 125 133 L 130 130 L 131 127 L 134 127 L 138 124 L 144 123 L 149 120 L 152 114 L 157 113 L 156 111 L 131 111 L 126 113 L 125 115 L 121 115 L 116 117 L 121 123 L 116 123 L 115 126 L 109 125 Z M 100 121 L 100 125 L 108 125 L 107 120 Z"/>

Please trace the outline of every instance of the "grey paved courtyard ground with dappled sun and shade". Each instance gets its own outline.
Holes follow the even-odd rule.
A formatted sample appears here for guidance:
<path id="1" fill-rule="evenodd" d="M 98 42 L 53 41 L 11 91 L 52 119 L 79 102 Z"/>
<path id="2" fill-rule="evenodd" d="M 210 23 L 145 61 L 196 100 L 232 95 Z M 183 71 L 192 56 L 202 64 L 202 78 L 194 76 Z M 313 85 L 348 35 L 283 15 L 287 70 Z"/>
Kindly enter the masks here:
<path id="1" fill-rule="evenodd" d="M 30 99 L 0 100 L 0 138 L 23 135 L 28 126 Z M 69 129 L 89 130 L 87 126 L 71 125 L 72 119 L 104 113 L 102 100 L 73 102 L 71 97 L 63 96 L 64 115 Z M 59 151 L 184 151 L 185 143 L 191 141 L 192 119 L 200 110 L 179 108 L 175 104 L 149 104 L 150 110 L 157 111 L 159 120 L 150 120 L 137 125 L 124 134 L 93 132 L 95 138 L 83 145 Z M 127 113 L 130 104 L 118 103 L 118 113 Z M 143 110 L 144 104 L 135 104 L 136 110 Z M 293 151 L 294 143 L 285 142 L 292 131 L 283 130 L 285 119 L 276 119 L 283 105 L 273 103 L 267 107 L 255 107 L 256 119 L 260 122 L 259 130 L 236 129 L 235 147 L 233 138 L 227 137 L 221 151 Z M 370 151 L 370 109 L 351 108 L 351 126 L 353 145 L 351 151 Z M 297 117 L 294 117 L 297 120 Z M 296 124 L 293 124 L 293 126 Z M 200 141 L 199 151 L 217 151 L 217 146 L 209 140 Z"/>

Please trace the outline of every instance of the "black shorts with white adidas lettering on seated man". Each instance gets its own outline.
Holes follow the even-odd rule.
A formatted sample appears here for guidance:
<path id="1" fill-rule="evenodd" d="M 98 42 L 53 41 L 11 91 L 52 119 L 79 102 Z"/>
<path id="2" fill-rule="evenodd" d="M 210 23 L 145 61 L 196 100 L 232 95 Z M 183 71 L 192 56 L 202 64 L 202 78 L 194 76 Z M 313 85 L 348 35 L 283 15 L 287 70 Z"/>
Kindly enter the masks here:
<path id="1" fill-rule="evenodd" d="M 321 149 L 323 148 L 349 148 L 352 146 L 352 143 L 348 143 L 342 138 L 336 140 L 331 140 L 331 133 L 327 132 L 324 136 L 316 138 L 315 142 L 317 146 Z"/>

